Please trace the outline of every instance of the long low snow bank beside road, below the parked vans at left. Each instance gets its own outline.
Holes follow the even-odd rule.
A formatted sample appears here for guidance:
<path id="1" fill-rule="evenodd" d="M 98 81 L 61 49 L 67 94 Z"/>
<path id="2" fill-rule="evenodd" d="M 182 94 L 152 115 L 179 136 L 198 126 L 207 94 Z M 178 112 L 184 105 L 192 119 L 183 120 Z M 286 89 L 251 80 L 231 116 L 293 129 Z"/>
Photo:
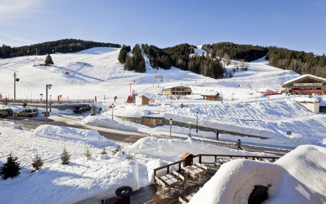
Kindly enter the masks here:
<path id="1" fill-rule="evenodd" d="M 48 124 L 38 126 L 33 132 L 33 135 L 59 140 L 78 139 L 84 141 L 107 141 L 107 139 L 101 136 L 97 131 Z"/>

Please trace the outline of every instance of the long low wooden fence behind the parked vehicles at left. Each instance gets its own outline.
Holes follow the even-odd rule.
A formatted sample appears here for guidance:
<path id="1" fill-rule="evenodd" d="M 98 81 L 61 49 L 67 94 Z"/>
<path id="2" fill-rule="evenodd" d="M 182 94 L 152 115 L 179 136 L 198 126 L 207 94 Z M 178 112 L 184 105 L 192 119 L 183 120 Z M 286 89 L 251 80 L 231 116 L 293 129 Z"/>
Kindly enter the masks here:
<path id="1" fill-rule="evenodd" d="M 12 104 L 14 103 L 14 99 L 12 98 L 2 98 L 0 99 L 0 103 L 5 104 L 5 100 L 7 103 Z M 46 100 L 39 100 L 39 99 L 16 99 L 15 104 L 45 104 Z M 79 104 L 79 103 L 94 103 L 94 99 L 78 99 L 78 100 L 47 100 L 48 104 Z"/>

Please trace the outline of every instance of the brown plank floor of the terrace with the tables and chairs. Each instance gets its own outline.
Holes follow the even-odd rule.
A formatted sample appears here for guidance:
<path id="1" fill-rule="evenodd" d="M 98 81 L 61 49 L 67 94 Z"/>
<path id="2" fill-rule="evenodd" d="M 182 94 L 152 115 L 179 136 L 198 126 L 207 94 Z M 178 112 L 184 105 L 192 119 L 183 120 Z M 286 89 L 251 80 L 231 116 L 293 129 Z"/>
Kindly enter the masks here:
<path id="1" fill-rule="evenodd" d="M 219 167 L 212 167 L 207 166 L 207 179 L 204 175 L 204 179 L 202 180 L 201 177 L 198 181 L 195 181 L 195 184 L 192 180 L 186 180 L 184 185 L 184 190 L 180 188 L 174 190 L 171 188 L 171 195 L 166 193 L 165 198 L 164 194 L 160 194 L 157 188 L 154 188 L 154 185 L 146 186 L 140 188 L 138 191 L 134 191 L 130 195 L 130 203 L 131 204 L 139 204 L 139 203 L 161 203 L 161 204 L 170 204 L 170 203 L 179 203 L 179 196 L 184 198 L 185 195 L 191 194 L 193 192 L 197 192 L 199 187 L 203 187 L 204 184 L 210 180 L 210 178 L 216 173 Z"/>

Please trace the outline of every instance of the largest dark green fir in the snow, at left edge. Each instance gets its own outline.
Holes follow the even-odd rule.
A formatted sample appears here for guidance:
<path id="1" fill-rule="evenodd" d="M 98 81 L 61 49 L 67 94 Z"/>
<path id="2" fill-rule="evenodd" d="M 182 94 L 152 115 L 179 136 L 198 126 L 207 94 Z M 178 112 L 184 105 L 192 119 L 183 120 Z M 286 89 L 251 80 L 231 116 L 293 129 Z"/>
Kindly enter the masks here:
<path id="1" fill-rule="evenodd" d="M 20 174 L 19 170 L 21 169 L 19 167 L 20 162 L 17 162 L 18 158 L 14 157 L 12 154 L 12 150 L 10 151 L 10 154 L 7 158 L 7 162 L 0 167 L 0 175 L 1 178 L 6 180 L 9 177 L 13 179 L 13 177 L 16 177 Z"/>

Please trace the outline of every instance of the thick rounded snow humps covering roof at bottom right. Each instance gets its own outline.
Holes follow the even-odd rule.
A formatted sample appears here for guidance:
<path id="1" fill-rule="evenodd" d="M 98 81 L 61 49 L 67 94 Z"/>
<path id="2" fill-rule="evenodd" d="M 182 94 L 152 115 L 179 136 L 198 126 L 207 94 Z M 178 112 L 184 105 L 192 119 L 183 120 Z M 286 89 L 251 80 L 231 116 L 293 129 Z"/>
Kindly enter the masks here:
<path id="1" fill-rule="evenodd" d="M 255 185 L 265 203 L 324 203 L 326 148 L 302 145 L 275 163 L 238 159 L 223 164 L 189 203 L 248 203 Z M 308 173 L 309 172 L 309 173 Z"/>

